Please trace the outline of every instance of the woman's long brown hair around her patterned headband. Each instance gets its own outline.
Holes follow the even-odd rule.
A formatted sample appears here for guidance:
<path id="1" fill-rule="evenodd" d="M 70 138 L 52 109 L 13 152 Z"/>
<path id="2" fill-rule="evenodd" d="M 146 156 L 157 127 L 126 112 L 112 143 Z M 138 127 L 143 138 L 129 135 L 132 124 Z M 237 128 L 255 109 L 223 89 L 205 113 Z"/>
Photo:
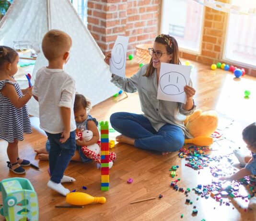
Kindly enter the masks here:
<path id="1" fill-rule="evenodd" d="M 167 44 L 166 39 L 169 40 L 171 46 Z M 175 40 L 174 37 L 168 35 L 168 34 L 160 34 L 159 36 L 156 37 L 155 42 L 163 44 L 166 46 L 166 50 L 168 54 L 173 54 L 172 60 L 169 62 L 170 64 L 175 64 L 175 65 L 181 65 L 180 59 L 179 59 L 179 47 L 178 43 Z M 153 60 L 151 57 L 149 66 L 147 67 L 146 73 L 143 75 L 145 77 L 150 77 L 154 73 L 155 68 L 153 67 Z"/>

